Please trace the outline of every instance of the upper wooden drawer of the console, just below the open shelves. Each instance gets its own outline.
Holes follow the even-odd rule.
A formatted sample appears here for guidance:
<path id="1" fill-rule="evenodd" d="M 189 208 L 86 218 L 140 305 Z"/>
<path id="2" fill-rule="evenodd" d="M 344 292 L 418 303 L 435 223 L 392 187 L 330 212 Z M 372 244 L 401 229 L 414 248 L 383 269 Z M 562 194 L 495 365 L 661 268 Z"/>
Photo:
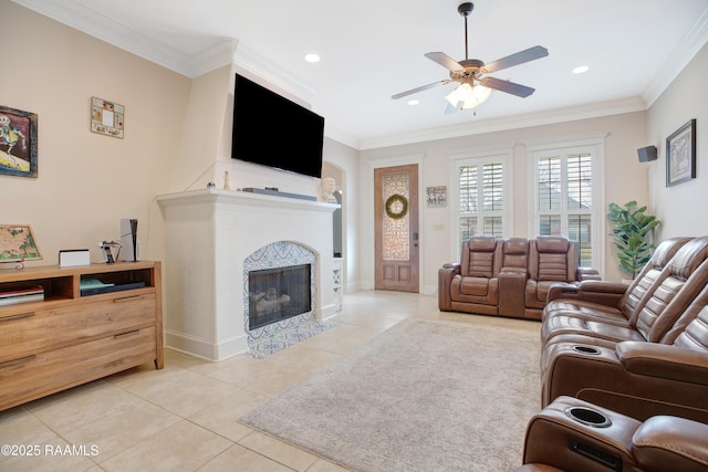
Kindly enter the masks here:
<path id="1" fill-rule="evenodd" d="M 0 363 L 155 325 L 155 294 L 115 295 L 112 300 L 49 310 L 0 312 Z"/>

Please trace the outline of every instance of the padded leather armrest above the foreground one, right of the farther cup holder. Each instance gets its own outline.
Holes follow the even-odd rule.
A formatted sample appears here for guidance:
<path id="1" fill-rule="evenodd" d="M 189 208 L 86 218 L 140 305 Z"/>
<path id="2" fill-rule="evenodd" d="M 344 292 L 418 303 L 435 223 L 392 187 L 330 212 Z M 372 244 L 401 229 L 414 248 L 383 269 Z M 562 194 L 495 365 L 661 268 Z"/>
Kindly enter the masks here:
<path id="1" fill-rule="evenodd" d="M 631 374 L 708 386 L 708 352 L 626 340 L 615 347 Z"/>

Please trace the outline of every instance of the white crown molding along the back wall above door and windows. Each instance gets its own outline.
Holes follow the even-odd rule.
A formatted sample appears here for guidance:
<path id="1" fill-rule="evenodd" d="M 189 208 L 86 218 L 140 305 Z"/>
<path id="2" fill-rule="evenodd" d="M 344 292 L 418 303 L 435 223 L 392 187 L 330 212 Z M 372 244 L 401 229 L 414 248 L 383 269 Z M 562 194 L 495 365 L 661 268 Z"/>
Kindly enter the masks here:
<path id="1" fill-rule="evenodd" d="M 620 115 L 623 113 L 643 112 L 645 109 L 646 104 L 644 99 L 637 96 L 633 98 L 569 106 L 524 115 L 480 119 L 454 126 L 419 129 L 412 133 L 403 133 L 382 138 L 366 139 L 362 140 L 360 150 L 413 143 L 424 143 L 437 139 L 449 139 L 462 136 L 481 135 L 486 133 L 528 128 L 532 126 L 551 125 L 563 122 L 574 122 L 577 119 L 597 118 L 601 116 Z"/>

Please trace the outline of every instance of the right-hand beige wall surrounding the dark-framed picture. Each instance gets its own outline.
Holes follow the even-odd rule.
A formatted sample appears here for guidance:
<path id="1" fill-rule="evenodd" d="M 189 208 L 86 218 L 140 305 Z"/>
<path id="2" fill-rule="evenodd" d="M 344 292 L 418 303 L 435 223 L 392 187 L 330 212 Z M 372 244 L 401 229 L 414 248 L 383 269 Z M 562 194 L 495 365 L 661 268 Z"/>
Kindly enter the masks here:
<path id="1" fill-rule="evenodd" d="M 649 108 L 646 146 L 658 148 L 649 168 L 650 206 L 662 220 L 659 239 L 708 234 L 708 45 L 681 71 Z M 666 187 L 666 138 L 696 118 L 696 178 Z"/>

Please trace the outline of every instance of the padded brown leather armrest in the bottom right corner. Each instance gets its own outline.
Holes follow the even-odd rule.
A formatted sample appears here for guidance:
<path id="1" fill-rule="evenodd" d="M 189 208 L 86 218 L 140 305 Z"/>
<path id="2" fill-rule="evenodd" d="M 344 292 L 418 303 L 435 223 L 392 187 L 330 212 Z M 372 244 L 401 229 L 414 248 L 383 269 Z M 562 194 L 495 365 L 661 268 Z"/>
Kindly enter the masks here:
<path id="1" fill-rule="evenodd" d="M 644 470 L 704 470 L 708 465 L 708 424 L 685 418 L 647 419 L 632 438 L 634 457 Z"/>

